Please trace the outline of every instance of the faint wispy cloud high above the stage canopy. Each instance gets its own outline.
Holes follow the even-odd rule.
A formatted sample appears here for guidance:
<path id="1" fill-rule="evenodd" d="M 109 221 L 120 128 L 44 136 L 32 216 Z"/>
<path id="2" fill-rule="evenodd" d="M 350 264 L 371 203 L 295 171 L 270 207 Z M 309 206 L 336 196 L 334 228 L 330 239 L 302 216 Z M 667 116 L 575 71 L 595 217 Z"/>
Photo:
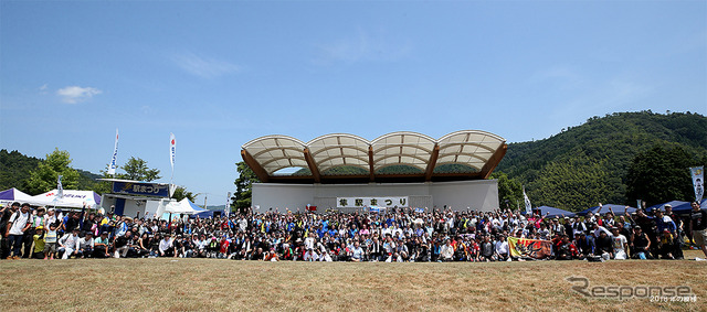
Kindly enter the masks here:
<path id="1" fill-rule="evenodd" d="M 395 61 L 410 51 L 408 44 L 392 43 L 381 32 L 369 34 L 359 29 L 356 35 L 319 44 L 317 63 Z"/>

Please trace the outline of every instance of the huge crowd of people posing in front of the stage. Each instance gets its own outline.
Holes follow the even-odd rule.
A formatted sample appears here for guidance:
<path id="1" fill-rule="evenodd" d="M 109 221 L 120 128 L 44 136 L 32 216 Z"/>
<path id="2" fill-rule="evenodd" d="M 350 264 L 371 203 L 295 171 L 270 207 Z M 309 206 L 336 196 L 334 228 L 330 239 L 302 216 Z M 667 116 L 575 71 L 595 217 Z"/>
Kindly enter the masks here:
<path id="1" fill-rule="evenodd" d="M 257 213 L 163 220 L 0 208 L 2 259 L 183 257 L 265 261 L 510 261 L 508 237 L 551 241 L 551 259 L 682 259 L 694 243 L 707 258 L 707 213 L 672 207 L 548 217 L 495 211 L 391 208 L 381 213 Z"/>

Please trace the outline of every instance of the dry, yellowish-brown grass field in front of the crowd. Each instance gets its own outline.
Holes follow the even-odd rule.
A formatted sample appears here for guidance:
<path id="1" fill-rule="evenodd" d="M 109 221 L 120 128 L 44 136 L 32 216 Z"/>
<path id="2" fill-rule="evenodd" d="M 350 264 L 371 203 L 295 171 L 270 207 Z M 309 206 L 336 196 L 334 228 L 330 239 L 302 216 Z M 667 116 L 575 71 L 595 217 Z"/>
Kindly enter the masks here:
<path id="1" fill-rule="evenodd" d="M 701 254 L 701 252 L 700 252 Z M 687 251 L 689 258 L 697 251 Z M 697 302 L 594 299 L 594 286 L 688 286 Z M 0 261 L 0 310 L 707 311 L 707 262 L 256 262 L 217 259 Z"/>

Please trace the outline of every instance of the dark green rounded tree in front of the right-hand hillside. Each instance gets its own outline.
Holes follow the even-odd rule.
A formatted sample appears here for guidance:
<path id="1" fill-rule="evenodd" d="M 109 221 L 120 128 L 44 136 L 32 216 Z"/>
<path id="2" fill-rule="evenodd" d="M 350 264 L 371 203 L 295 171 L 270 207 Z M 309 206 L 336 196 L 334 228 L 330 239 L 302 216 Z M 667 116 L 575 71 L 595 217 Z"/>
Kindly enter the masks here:
<path id="1" fill-rule="evenodd" d="M 643 200 L 648 205 L 694 201 L 695 189 L 688 168 L 699 162 L 680 147 L 655 146 L 639 153 L 626 173 L 626 197 Z"/>

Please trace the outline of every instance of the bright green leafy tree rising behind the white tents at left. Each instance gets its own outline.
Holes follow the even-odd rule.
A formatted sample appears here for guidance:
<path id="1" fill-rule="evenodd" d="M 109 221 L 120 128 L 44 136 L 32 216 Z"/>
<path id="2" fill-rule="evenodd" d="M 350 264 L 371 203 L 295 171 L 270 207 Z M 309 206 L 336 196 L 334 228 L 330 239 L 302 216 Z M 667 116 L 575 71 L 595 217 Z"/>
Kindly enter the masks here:
<path id="1" fill-rule="evenodd" d="M 56 180 L 62 175 L 62 186 L 66 190 L 78 186 L 78 172 L 70 166 L 71 155 L 67 151 L 55 148 L 46 160 L 40 162 L 36 169 L 30 172 L 28 180 L 28 193 L 41 194 L 56 189 Z"/>

